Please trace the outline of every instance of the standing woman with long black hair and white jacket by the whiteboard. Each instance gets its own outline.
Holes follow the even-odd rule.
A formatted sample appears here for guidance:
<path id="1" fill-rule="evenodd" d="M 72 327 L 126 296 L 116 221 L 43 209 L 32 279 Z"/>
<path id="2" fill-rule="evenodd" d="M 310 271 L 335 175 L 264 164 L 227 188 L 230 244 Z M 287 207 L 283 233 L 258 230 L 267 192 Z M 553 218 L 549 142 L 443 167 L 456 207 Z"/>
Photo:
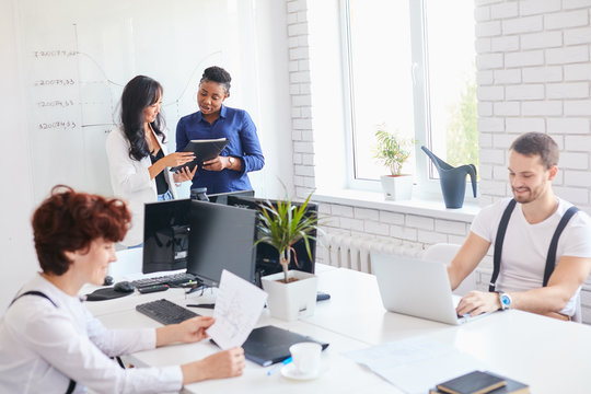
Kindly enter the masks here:
<path id="1" fill-rule="evenodd" d="M 160 83 L 144 76 L 134 78 L 121 95 L 121 125 L 107 137 L 111 185 L 115 196 L 127 200 L 134 219 L 121 242 L 125 246 L 142 242 L 143 205 L 176 198 L 176 184 L 195 176 L 195 170 L 187 167 L 176 174 L 167 170 L 195 157 L 190 152 L 166 154 L 161 104 Z"/>

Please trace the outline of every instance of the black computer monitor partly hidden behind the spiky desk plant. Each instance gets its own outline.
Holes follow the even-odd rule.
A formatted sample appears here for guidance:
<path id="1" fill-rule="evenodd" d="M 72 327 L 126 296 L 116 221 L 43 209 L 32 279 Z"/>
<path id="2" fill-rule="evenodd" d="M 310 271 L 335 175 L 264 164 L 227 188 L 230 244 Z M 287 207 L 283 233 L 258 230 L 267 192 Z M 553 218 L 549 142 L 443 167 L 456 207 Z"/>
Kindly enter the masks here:
<path id="1" fill-rule="evenodd" d="M 263 199 L 263 198 L 248 198 L 240 196 L 229 196 L 228 205 L 234 207 L 248 208 L 253 210 L 258 210 L 258 207 L 265 201 L 276 204 L 277 200 L 273 199 Z M 296 206 L 300 206 L 300 202 L 293 201 Z M 305 215 L 317 215 L 318 206 L 314 202 L 309 202 Z M 308 250 L 305 248 L 304 240 L 300 240 L 293 244 L 293 250 L 296 251 L 296 256 L 298 257 L 298 265 L 296 265 L 296 258 L 293 256 L 293 251 L 291 252 L 291 263 L 289 264 L 289 269 L 297 269 L 305 273 L 314 274 L 314 265 L 316 260 L 316 231 L 314 230 L 311 235 L 314 240 L 309 240 L 310 243 L 310 253 L 312 258 L 308 255 Z M 281 265 L 279 264 L 279 253 L 275 247 L 266 243 L 258 243 L 256 245 L 256 276 L 257 278 L 265 275 L 271 275 L 280 273 L 282 270 Z"/>

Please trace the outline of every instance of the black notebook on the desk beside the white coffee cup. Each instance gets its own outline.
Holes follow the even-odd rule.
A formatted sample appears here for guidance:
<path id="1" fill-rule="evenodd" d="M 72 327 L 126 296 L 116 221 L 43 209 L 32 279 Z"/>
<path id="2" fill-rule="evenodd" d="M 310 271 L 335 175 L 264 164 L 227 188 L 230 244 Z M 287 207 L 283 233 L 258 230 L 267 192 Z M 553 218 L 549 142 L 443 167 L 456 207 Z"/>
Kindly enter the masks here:
<path id="1" fill-rule="evenodd" d="M 267 367 L 287 359 L 289 347 L 302 341 L 321 344 L 323 350 L 328 347 L 326 343 L 271 325 L 253 329 L 242 347 L 248 360 Z"/>

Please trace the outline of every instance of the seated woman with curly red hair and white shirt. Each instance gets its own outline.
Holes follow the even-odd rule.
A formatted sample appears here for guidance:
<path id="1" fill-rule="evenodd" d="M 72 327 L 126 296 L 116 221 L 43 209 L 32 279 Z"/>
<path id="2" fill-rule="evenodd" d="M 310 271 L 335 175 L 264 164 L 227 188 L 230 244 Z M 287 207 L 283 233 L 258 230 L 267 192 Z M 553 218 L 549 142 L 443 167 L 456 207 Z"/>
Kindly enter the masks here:
<path id="1" fill-rule="evenodd" d="M 212 317 L 159 328 L 106 329 L 78 297 L 102 285 L 129 225 L 119 199 L 56 186 L 33 215 L 42 273 L 19 291 L 0 322 L 0 393 L 178 392 L 183 384 L 236 376 L 242 348 L 164 368 L 121 369 L 109 357 L 207 337 Z"/>

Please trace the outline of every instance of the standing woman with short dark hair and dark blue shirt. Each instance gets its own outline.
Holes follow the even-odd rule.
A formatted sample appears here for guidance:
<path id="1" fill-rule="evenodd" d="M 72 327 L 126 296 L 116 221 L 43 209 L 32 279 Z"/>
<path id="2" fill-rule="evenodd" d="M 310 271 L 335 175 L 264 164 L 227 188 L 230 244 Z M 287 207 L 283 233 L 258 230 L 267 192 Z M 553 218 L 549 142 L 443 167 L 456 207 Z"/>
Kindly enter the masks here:
<path id="1" fill-rule="evenodd" d="M 256 126 L 244 109 L 222 105 L 230 96 L 230 73 L 221 67 L 204 71 L 197 104 L 199 111 L 184 116 L 176 126 L 176 150 L 190 140 L 228 138 L 230 142 L 213 160 L 206 161 L 193 178 L 193 187 L 207 187 L 207 193 L 248 190 L 247 173 L 265 165 Z"/>

